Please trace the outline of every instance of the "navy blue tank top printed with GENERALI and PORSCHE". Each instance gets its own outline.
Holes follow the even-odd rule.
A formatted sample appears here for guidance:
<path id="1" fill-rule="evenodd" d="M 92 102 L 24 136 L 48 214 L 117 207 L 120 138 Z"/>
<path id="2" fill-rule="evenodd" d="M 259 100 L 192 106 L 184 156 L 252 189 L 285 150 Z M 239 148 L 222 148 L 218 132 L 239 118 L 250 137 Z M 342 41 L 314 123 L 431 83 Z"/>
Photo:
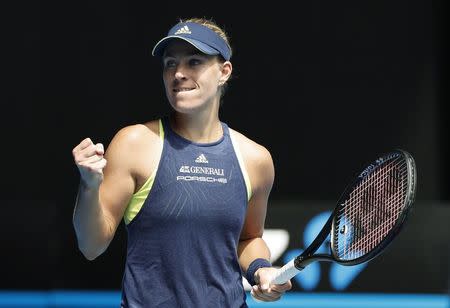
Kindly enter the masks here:
<path id="1" fill-rule="evenodd" d="M 126 227 L 122 307 L 247 307 L 237 257 L 247 189 L 228 126 L 201 144 L 163 127 L 155 181 Z"/>

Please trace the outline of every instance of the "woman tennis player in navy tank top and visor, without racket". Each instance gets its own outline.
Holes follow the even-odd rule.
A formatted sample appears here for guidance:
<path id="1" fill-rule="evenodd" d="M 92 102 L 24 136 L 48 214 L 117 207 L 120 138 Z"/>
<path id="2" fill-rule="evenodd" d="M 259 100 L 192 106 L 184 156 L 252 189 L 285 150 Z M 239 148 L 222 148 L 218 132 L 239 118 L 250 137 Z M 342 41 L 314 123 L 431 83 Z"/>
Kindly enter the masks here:
<path id="1" fill-rule="evenodd" d="M 81 252 L 95 259 L 126 225 L 121 307 L 247 307 L 242 274 L 261 301 L 292 286 L 269 285 L 261 238 L 271 155 L 219 119 L 231 54 L 213 21 L 180 21 L 153 49 L 171 113 L 122 128 L 107 151 L 90 138 L 73 149 Z"/>

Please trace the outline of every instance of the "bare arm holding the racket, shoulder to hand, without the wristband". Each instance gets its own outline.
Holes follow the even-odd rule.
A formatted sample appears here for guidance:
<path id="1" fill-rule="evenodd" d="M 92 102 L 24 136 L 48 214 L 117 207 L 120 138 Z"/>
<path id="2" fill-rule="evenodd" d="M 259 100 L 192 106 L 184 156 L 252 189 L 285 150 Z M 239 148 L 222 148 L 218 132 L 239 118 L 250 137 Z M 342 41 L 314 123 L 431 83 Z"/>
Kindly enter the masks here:
<path id="1" fill-rule="evenodd" d="M 240 149 L 253 192 L 238 245 L 239 263 L 242 270 L 247 272 L 254 260 L 270 260 L 270 250 L 262 235 L 275 171 L 272 157 L 266 148 L 241 138 Z M 261 267 L 255 271 L 253 278 L 256 284 L 252 286 L 251 291 L 253 297 L 262 301 L 275 301 L 291 289 L 290 281 L 282 285 L 269 285 L 275 271 L 273 267 Z"/>

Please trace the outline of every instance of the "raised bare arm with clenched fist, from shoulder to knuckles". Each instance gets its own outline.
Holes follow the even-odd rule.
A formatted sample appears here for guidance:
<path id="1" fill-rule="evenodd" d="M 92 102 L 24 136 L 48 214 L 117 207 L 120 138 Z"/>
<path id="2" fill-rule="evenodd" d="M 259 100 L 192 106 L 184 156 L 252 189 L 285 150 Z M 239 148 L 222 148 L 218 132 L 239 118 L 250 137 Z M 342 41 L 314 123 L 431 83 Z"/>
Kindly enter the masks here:
<path id="1" fill-rule="evenodd" d="M 80 172 L 73 225 L 78 247 L 88 260 L 107 249 L 139 179 L 150 175 L 149 149 L 155 149 L 150 142 L 158 140 L 157 133 L 144 125 L 126 127 L 114 136 L 104 157 L 103 146 L 89 138 L 73 149 Z"/>

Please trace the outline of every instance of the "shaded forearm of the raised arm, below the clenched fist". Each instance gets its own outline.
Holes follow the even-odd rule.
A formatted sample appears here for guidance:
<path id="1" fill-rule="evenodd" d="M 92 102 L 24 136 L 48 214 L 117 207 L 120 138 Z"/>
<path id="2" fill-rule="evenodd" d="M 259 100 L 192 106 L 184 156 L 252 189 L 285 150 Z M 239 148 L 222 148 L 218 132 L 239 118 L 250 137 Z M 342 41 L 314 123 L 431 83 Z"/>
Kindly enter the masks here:
<path id="1" fill-rule="evenodd" d="M 106 250 L 114 231 L 108 227 L 107 219 L 100 206 L 98 187 L 87 188 L 80 184 L 73 225 L 78 247 L 87 259 L 93 260 Z"/>

